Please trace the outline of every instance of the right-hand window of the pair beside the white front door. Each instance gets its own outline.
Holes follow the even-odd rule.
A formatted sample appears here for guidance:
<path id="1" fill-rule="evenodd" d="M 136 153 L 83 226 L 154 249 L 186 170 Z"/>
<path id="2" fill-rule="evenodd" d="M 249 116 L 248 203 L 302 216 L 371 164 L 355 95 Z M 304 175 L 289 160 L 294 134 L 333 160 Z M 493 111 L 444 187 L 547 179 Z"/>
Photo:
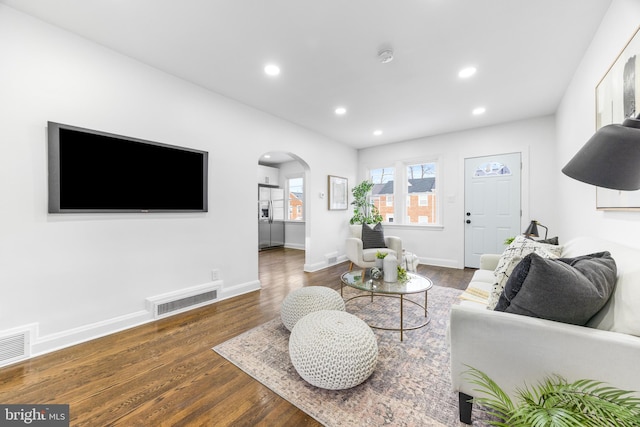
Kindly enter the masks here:
<path id="1" fill-rule="evenodd" d="M 436 224 L 436 163 L 407 165 L 407 194 L 417 203 L 407 204 L 409 224 Z"/>

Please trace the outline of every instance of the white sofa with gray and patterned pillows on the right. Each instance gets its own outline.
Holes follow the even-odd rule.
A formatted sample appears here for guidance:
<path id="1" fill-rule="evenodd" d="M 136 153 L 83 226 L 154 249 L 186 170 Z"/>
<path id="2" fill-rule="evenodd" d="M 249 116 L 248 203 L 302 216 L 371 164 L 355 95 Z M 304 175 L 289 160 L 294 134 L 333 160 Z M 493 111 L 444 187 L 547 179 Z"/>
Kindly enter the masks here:
<path id="1" fill-rule="evenodd" d="M 512 398 L 518 388 L 552 374 L 640 391 L 640 249 L 583 237 L 564 244 L 561 256 L 602 251 L 616 261 L 616 286 L 587 326 L 488 310 L 481 294 L 491 291 L 500 255 L 482 256 L 465 293 L 469 298 L 452 307 L 449 323 L 451 380 L 462 422 L 471 423 L 468 400 L 477 394 L 465 375 L 469 367 L 486 373 Z"/>

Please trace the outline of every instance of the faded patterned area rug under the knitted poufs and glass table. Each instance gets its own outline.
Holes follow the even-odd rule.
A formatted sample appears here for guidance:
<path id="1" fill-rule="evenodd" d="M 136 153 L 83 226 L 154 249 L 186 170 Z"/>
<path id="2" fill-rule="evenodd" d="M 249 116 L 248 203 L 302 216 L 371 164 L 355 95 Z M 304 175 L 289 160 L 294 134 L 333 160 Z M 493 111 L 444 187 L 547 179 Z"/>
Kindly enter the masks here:
<path id="1" fill-rule="evenodd" d="M 344 289 L 345 298 L 359 291 Z M 458 395 L 451 391 L 446 329 L 462 291 L 434 286 L 428 293 L 430 322 L 405 331 L 373 329 L 378 364 L 367 381 L 348 390 L 324 390 L 304 381 L 289 359 L 289 331 L 275 318 L 213 348 L 256 380 L 326 426 L 458 426 Z M 414 296 L 424 302 L 424 294 Z M 355 298 L 347 311 L 383 327 L 399 324 L 399 300 Z M 405 303 L 405 320 L 419 325 L 424 310 Z M 372 324 L 372 323 L 369 323 Z M 489 417 L 474 405 L 473 425 Z"/>

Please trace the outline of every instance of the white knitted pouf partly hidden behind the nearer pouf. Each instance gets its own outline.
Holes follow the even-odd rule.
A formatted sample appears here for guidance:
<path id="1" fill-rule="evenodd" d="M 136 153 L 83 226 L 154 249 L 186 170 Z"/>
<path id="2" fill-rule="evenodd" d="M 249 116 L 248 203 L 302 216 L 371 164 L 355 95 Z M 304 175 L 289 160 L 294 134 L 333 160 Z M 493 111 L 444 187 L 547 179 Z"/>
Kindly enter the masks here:
<path id="1" fill-rule="evenodd" d="M 318 310 L 344 311 L 344 300 L 338 292 L 326 286 L 307 286 L 287 295 L 282 301 L 280 317 L 284 326 L 291 330 L 298 320 Z"/>

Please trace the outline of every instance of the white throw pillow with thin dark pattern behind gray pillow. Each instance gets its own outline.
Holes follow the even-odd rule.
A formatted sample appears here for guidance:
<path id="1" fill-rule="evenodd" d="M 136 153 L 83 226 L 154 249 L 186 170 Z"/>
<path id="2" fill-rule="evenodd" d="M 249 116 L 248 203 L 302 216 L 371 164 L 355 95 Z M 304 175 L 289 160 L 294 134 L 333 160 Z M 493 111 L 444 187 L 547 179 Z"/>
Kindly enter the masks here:
<path id="1" fill-rule="evenodd" d="M 522 258 L 530 253 L 536 253 L 542 258 L 558 258 L 562 254 L 562 246 L 539 243 L 524 236 L 517 236 L 504 250 L 500 261 L 498 261 L 498 266 L 493 272 L 496 276 L 496 283 L 493 285 L 491 295 L 489 295 L 487 309 L 493 310 L 496 307 L 511 272 L 522 261 Z"/>

